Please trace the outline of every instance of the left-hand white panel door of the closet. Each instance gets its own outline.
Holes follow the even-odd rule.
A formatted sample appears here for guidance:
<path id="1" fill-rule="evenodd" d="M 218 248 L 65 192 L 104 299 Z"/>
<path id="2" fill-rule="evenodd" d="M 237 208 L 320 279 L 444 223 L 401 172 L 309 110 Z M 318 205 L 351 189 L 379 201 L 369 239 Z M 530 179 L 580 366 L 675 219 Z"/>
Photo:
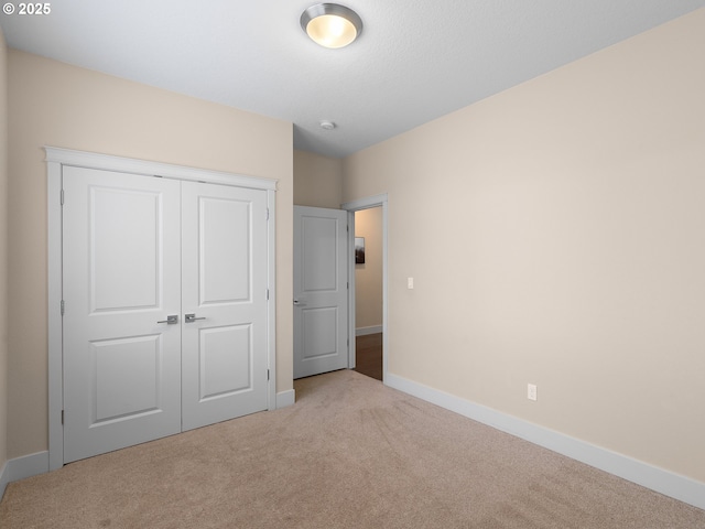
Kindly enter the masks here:
<path id="1" fill-rule="evenodd" d="M 64 168 L 64 462 L 181 431 L 180 182 Z"/>

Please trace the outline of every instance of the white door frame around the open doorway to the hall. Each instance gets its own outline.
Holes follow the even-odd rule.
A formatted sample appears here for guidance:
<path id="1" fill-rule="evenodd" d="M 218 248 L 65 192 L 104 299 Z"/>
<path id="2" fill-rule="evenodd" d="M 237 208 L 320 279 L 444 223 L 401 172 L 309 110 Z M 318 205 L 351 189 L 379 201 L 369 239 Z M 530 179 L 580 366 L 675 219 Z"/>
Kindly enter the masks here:
<path id="1" fill-rule="evenodd" d="M 346 202 L 340 204 L 340 209 L 348 212 L 348 281 L 350 284 L 350 295 L 348 295 L 348 322 L 349 330 L 348 336 L 350 336 L 350 347 L 348 349 L 348 366 L 355 367 L 355 349 L 357 345 L 356 336 L 356 322 L 355 322 L 355 212 L 362 209 L 371 209 L 372 207 L 382 208 L 382 384 L 387 384 L 387 366 L 388 366 L 388 339 L 389 333 L 387 328 L 388 321 L 388 281 L 387 281 L 387 241 L 388 241 L 388 196 L 387 193 L 382 193 L 367 198 L 360 198 L 352 202 Z"/>

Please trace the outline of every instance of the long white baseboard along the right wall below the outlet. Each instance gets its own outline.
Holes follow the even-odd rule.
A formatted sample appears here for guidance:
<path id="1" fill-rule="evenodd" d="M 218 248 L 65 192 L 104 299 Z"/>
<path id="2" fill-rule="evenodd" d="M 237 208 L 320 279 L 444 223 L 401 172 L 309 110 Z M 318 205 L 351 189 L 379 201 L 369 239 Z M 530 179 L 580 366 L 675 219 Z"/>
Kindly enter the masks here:
<path id="1" fill-rule="evenodd" d="M 601 449 L 579 439 L 476 404 L 469 400 L 397 375 L 387 374 L 384 384 L 390 388 L 432 402 L 441 408 L 566 455 L 600 471 L 705 509 L 705 483 Z"/>

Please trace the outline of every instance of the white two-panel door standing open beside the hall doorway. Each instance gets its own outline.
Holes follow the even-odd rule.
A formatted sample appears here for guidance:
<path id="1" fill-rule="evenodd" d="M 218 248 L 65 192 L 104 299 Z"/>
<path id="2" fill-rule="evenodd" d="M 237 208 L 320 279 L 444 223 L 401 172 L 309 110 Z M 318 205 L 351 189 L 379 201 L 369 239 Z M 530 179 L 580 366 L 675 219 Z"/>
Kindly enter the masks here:
<path id="1" fill-rule="evenodd" d="M 348 367 L 347 212 L 294 206 L 294 378 Z"/>

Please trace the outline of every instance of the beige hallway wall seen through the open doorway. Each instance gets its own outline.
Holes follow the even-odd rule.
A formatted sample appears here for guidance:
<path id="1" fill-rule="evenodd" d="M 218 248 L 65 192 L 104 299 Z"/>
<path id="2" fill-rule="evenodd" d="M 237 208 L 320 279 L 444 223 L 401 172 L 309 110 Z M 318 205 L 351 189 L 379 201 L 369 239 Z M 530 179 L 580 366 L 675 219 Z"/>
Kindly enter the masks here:
<path id="1" fill-rule="evenodd" d="M 365 264 L 355 266 L 355 326 L 382 325 L 382 208 L 355 213 L 355 236 L 365 237 Z"/>

